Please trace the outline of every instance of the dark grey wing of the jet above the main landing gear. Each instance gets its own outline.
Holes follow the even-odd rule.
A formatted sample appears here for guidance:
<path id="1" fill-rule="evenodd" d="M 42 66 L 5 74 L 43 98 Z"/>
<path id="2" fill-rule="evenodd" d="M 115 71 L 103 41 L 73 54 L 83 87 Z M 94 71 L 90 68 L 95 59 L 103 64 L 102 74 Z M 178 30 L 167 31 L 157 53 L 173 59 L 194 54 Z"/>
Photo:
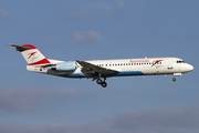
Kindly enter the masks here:
<path id="1" fill-rule="evenodd" d="M 118 71 L 116 70 L 112 70 L 112 69 L 106 69 L 106 68 L 101 68 L 97 66 L 95 64 L 85 62 L 85 61 L 76 61 L 78 64 L 81 64 L 83 66 L 82 72 L 86 73 L 86 72 L 95 72 L 98 74 L 111 74 L 111 73 L 116 73 Z"/>

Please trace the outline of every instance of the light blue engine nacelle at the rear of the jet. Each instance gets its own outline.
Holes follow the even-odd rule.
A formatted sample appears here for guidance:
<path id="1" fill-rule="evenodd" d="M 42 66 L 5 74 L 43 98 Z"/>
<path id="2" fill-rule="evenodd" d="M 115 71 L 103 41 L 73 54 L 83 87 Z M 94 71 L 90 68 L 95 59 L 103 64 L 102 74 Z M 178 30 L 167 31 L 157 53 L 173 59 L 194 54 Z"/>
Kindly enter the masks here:
<path id="1" fill-rule="evenodd" d="M 76 62 L 65 62 L 65 63 L 57 63 L 54 66 L 51 66 L 52 70 L 56 71 L 75 71 L 76 70 Z"/>

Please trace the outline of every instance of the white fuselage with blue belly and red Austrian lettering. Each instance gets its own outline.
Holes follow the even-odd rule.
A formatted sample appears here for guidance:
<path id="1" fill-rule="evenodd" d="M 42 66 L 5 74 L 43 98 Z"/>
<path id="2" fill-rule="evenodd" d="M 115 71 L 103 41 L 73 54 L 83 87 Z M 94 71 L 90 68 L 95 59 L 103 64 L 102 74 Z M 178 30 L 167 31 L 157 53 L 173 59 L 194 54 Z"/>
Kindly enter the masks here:
<path id="1" fill-rule="evenodd" d="M 50 60 L 52 62 L 52 60 Z M 57 63 L 59 61 L 55 61 Z M 63 61 L 60 61 L 63 63 Z M 145 59 L 124 59 L 124 60 L 94 60 L 86 61 L 91 64 L 118 71 L 112 74 L 102 74 L 102 78 L 108 76 L 127 76 L 127 75 L 156 75 L 156 74 L 174 74 L 181 75 L 181 73 L 189 72 L 193 69 L 192 65 L 185 63 L 178 58 L 145 58 Z M 76 62 L 76 70 L 70 72 L 57 72 L 51 68 L 41 68 L 36 65 L 28 65 L 29 71 L 53 74 L 64 78 L 85 78 L 82 73 L 82 66 Z M 98 74 L 94 74 L 98 76 Z"/>

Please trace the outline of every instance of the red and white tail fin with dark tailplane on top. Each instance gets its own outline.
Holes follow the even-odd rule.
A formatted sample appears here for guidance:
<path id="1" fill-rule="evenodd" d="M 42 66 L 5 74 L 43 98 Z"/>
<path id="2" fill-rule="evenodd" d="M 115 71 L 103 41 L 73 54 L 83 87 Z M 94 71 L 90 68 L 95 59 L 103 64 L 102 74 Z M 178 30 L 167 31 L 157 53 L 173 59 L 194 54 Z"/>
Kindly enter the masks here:
<path id="1" fill-rule="evenodd" d="M 17 51 L 20 51 L 29 65 L 41 65 L 51 63 L 34 45 L 8 45 L 13 47 Z"/>

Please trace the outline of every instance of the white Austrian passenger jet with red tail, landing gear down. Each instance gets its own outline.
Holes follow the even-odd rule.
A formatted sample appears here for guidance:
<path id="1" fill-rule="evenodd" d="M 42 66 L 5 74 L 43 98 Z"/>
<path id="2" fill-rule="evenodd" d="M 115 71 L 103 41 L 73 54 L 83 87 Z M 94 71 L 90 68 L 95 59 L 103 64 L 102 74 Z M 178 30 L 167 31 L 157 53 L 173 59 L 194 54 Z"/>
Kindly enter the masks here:
<path id="1" fill-rule="evenodd" d="M 135 76 L 135 75 L 182 75 L 193 70 L 191 64 L 179 58 L 144 58 L 121 60 L 93 60 L 93 61 L 60 61 L 46 59 L 34 45 L 24 44 L 13 47 L 21 52 L 28 62 L 27 70 L 44 74 L 74 79 L 93 79 L 103 88 L 107 86 L 106 78 Z M 104 79 L 104 80 L 102 80 Z"/>

